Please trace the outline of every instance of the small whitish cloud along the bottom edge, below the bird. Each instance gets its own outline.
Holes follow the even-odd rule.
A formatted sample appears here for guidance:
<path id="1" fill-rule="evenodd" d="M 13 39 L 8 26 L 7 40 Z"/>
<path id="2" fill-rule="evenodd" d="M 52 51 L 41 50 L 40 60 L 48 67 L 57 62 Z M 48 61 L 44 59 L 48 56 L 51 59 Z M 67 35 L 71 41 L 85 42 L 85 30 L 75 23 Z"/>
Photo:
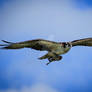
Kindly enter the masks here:
<path id="1" fill-rule="evenodd" d="M 20 90 L 8 89 L 8 90 L 1 90 L 0 92 L 58 92 L 58 91 L 45 84 L 36 84 L 33 85 L 32 87 L 24 87 Z"/>

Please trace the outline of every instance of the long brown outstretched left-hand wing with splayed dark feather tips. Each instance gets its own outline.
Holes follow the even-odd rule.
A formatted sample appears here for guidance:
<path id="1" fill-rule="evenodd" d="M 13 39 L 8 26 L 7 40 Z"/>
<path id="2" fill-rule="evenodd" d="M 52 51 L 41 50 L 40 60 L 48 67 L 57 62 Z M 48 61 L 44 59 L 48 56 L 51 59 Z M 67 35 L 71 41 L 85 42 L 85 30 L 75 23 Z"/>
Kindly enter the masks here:
<path id="1" fill-rule="evenodd" d="M 12 43 L 2 40 L 5 43 L 0 46 L 4 46 L 3 49 L 20 49 L 20 48 L 32 48 L 35 50 L 51 50 L 54 44 L 57 44 L 53 41 L 43 40 L 43 39 L 36 39 L 36 40 L 29 40 L 24 42 Z"/>

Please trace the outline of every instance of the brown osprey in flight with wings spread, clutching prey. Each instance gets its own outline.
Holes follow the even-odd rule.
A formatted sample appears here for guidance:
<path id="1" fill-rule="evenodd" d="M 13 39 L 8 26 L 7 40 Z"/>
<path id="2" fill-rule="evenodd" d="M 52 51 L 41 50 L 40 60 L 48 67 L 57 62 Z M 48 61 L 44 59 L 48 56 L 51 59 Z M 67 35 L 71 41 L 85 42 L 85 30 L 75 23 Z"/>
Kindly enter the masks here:
<path id="1" fill-rule="evenodd" d="M 1 44 L 4 46 L 1 49 L 21 49 L 21 48 L 32 48 L 40 51 L 48 51 L 48 53 L 39 59 L 48 59 L 47 65 L 53 61 L 59 61 L 62 59 L 62 54 L 67 53 L 74 46 L 92 46 L 92 38 L 85 38 L 74 40 L 70 42 L 54 42 L 44 39 L 28 40 L 23 42 L 8 42 L 2 40 L 7 44 Z"/>

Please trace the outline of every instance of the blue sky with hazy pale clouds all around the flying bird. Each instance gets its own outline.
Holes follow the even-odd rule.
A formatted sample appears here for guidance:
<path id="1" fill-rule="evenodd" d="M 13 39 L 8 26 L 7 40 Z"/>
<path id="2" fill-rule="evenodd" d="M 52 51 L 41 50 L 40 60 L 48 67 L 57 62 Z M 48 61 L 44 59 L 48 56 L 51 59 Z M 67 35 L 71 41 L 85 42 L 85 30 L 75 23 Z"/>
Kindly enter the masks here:
<path id="1" fill-rule="evenodd" d="M 0 0 L 1 40 L 86 37 L 92 37 L 91 0 Z M 0 92 L 92 92 L 92 48 L 74 47 L 49 66 L 37 59 L 45 53 L 0 50 Z"/>

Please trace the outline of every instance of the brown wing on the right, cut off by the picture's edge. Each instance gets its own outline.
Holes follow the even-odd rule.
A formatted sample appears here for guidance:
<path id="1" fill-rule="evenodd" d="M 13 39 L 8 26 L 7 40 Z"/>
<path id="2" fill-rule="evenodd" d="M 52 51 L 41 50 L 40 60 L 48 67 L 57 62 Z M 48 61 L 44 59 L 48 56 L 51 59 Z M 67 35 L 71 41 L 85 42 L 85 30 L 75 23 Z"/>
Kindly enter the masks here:
<path id="1" fill-rule="evenodd" d="M 92 46 L 92 38 L 74 40 L 71 44 L 72 46 Z"/>

